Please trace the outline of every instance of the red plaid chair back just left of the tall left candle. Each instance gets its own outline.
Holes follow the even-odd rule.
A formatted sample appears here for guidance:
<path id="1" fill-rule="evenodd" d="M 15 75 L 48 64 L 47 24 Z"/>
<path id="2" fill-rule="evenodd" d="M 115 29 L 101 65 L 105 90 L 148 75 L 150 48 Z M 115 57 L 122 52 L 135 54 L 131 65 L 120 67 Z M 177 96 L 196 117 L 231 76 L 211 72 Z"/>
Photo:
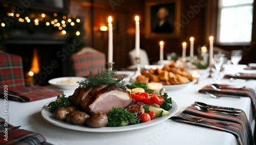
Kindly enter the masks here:
<path id="1" fill-rule="evenodd" d="M 76 77 L 86 77 L 92 71 L 96 75 L 99 69 L 105 70 L 105 54 L 91 47 L 84 47 L 81 51 L 71 55 L 71 66 Z"/>

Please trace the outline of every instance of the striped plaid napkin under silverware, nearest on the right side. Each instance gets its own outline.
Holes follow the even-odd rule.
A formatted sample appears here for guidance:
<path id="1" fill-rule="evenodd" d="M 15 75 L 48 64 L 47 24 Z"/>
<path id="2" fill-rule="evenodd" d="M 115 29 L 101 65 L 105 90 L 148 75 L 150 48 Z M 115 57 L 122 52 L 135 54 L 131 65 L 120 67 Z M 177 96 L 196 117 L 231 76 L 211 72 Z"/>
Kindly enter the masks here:
<path id="1" fill-rule="evenodd" d="M 238 109 L 227 108 L 227 107 L 218 107 L 218 106 L 212 106 L 212 105 L 209 105 L 209 106 L 211 108 L 238 110 Z M 181 114 L 179 114 L 178 116 L 173 116 L 171 117 L 171 119 L 173 119 L 175 122 L 181 122 L 181 123 L 186 123 L 190 125 L 196 125 L 196 126 L 201 126 L 205 128 L 210 128 L 210 129 L 231 133 L 234 136 L 236 136 L 240 145 L 254 144 L 251 127 L 244 111 L 242 111 L 238 116 L 232 116 L 232 115 L 214 113 L 209 111 L 208 112 L 199 111 L 195 108 L 195 105 L 193 104 L 188 108 L 186 108 L 182 113 L 184 113 L 186 116 L 193 119 L 207 119 L 214 122 L 221 121 L 223 123 L 228 123 L 229 126 L 224 126 L 217 123 L 203 122 L 203 121 L 197 122 L 197 123 L 190 122 L 187 119 L 185 119 L 183 116 L 181 116 Z"/>

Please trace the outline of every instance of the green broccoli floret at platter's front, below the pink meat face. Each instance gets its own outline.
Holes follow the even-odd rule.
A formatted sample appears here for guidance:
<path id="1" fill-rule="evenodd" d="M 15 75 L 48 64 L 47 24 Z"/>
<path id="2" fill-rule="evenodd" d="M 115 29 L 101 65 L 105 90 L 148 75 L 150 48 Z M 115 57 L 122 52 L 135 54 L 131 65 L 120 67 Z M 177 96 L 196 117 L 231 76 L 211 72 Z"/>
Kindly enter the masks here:
<path id="1" fill-rule="evenodd" d="M 121 107 L 112 108 L 108 113 L 109 127 L 120 127 L 140 123 L 134 113 L 128 112 Z"/>

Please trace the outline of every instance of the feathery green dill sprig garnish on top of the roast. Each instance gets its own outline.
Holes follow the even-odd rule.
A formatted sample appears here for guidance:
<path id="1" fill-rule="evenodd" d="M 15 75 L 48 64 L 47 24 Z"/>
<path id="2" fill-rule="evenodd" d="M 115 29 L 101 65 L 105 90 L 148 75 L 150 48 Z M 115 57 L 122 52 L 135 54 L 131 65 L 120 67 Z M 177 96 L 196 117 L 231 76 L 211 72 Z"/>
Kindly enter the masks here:
<path id="1" fill-rule="evenodd" d="M 114 79 L 116 78 L 116 79 Z M 116 70 L 98 70 L 97 74 L 92 75 L 92 71 L 90 71 L 87 79 L 82 81 L 78 81 L 80 87 L 99 87 L 102 84 L 105 85 L 114 85 L 116 87 L 121 86 L 120 82 L 123 82 L 123 78 L 121 75 L 117 75 Z"/>

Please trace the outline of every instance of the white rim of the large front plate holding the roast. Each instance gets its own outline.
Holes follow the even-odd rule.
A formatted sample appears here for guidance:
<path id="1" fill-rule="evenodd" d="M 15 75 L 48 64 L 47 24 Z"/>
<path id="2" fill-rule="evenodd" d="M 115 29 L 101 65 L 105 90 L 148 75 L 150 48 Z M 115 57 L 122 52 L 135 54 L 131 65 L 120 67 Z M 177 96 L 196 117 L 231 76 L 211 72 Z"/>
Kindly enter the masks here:
<path id="1" fill-rule="evenodd" d="M 57 120 L 53 117 L 53 113 L 50 113 L 47 109 L 47 106 L 50 102 L 48 102 L 47 104 L 45 104 L 42 107 L 41 115 L 49 123 L 59 126 L 59 127 L 62 127 L 62 128 L 71 129 L 71 130 L 86 131 L 86 132 L 121 132 L 121 131 L 136 130 L 136 129 L 154 126 L 156 124 L 163 122 L 164 120 L 167 120 L 169 117 L 172 117 L 178 109 L 178 105 L 176 104 L 176 102 L 174 100 L 172 100 L 172 101 L 173 101 L 173 103 L 172 103 L 173 108 L 169 110 L 169 113 L 170 113 L 169 115 L 156 117 L 146 123 L 140 123 L 140 124 L 136 124 L 136 125 L 129 125 L 129 126 L 123 126 L 123 127 L 90 128 L 87 126 L 77 126 L 77 125 L 66 123 L 61 120 Z"/>

